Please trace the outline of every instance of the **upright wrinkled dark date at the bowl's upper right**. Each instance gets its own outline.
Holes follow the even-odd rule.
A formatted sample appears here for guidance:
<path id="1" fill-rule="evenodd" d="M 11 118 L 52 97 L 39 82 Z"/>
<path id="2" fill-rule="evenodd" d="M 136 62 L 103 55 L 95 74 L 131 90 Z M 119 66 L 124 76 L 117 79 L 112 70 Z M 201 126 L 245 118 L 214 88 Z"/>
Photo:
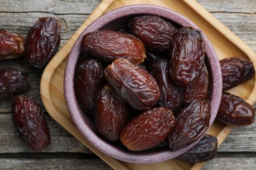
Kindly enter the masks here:
<path id="1" fill-rule="evenodd" d="M 190 27 L 181 27 L 173 35 L 170 74 L 180 86 L 192 82 L 202 70 L 205 58 L 205 43 L 202 32 Z"/>

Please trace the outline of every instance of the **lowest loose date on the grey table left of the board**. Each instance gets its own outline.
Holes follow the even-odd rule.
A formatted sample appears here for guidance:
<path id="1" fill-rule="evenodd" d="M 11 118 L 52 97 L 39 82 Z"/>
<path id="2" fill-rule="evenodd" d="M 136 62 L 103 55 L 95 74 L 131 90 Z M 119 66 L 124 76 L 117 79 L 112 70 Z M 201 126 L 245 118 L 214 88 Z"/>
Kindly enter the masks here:
<path id="1" fill-rule="evenodd" d="M 33 151 L 43 150 L 51 143 L 45 116 L 31 97 L 16 95 L 12 98 L 12 119 L 18 133 Z"/>

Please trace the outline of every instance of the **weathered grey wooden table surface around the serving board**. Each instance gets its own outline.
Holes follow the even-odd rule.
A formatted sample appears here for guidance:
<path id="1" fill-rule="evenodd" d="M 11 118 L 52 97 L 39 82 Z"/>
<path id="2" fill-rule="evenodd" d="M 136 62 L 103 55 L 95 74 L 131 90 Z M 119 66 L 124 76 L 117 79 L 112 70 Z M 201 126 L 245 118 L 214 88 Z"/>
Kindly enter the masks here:
<path id="1" fill-rule="evenodd" d="M 62 22 L 61 48 L 100 2 L 0 0 L 0 29 L 26 37 L 38 18 L 58 17 Z M 198 0 L 198 3 L 256 52 L 255 0 Z M 29 73 L 32 88 L 26 94 L 32 96 L 43 108 L 51 133 L 51 144 L 41 152 L 32 152 L 12 122 L 11 99 L 0 100 L 0 169 L 111 169 L 47 114 L 39 93 L 43 71 L 28 68 L 23 58 L 1 60 L 0 68 L 6 67 Z M 256 169 L 255 129 L 256 124 L 236 127 L 219 147 L 215 159 L 207 161 L 203 169 Z"/>

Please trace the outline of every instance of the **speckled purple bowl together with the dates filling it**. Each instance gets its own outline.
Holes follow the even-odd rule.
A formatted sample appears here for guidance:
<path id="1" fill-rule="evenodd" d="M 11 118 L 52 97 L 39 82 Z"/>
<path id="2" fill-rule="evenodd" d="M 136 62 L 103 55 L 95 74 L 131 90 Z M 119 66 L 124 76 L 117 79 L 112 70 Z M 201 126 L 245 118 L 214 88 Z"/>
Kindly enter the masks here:
<path id="1" fill-rule="evenodd" d="M 145 18 L 148 18 L 146 24 L 142 24 Z M 166 24 L 166 22 L 169 24 Z M 172 26 L 167 28 L 167 25 L 170 24 Z M 166 27 L 160 29 L 160 25 Z M 145 28 L 140 29 L 141 26 L 145 26 Z M 145 36 L 143 32 L 146 28 L 148 29 L 145 31 L 145 34 L 148 36 Z M 171 42 L 167 42 L 167 44 L 161 43 L 159 39 L 163 38 L 161 36 L 165 35 L 164 32 L 167 29 L 171 29 L 172 33 L 171 35 L 167 35 L 168 37 L 165 37 L 164 40 Z M 154 32 L 154 30 L 157 31 Z M 98 39 L 95 35 L 101 38 Z M 111 36 L 113 39 L 110 39 Z M 175 38 L 172 38 L 172 36 Z M 190 36 L 192 36 L 192 38 Z M 90 38 L 88 39 L 87 37 Z M 156 40 L 154 40 L 154 38 L 156 38 Z M 108 41 L 104 41 L 104 39 L 108 39 Z M 172 42 L 174 39 L 181 43 Z M 185 45 L 182 46 L 182 44 Z M 196 46 L 196 44 L 198 44 L 198 46 Z M 161 48 L 161 46 L 163 48 Z M 124 55 L 127 54 L 125 49 L 131 50 L 131 54 L 133 50 L 135 50 L 135 55 L 138 56 L 138 52 L 141 51 L 140 53 L 142 55 L 134 61 L 133 57 Z M 157 57 L 148 58 L 147 55 L 154 54 L 154 52 L 158 53 Z M 111 56 L 112 53 L 114 53 L 114 57 L 116 58 Z M 121 55 L 116 55 L 119 53 Z M 200 56 L 200 58 L 198 58 L 198 56 Z M 114 124 L 123 124 L 124 122 L 120 123 L 118 121 L 124 119 L 121 117 L 123 115 L 121 114 L 121 105 L 119 106 L 119 102 L 115 102 L 114 99 L 110 99 L 112 95 L 105 95 L 106 101 L 104 100 L 105 98 L 100 95 L 102 105 L 97 105 L 98 93 L 93 93 L 95 105 L 92 105 L 90 114 L 87 114 L 87 110 L 81 107 L 81 99 L 78 99 L 77 96 L 78 93 L 82 93 L 82 89 L 75 88 L 75 77 L 77 77 L 79 63 L 90 58 L 95 58 L 102 62 L 104 76 L 106 78 L 106 84 L 102 84 L 102 86 L 112 86 L 113 93 L 115 93 L 114 95 L 119 95 L 118 99 L 123 100 L 121 103 L 127 103 L 129 121 L 126 121 L 125 118 L 125 126 L 115 126 Z M 157 62 L 156 59 L 160 58 L 165 59 L 163 63 L 167 64 L 159 66 L 154 65 L 154 63 Z M 181 65 L 173 64 L 174 61 L 171 61 L 171 58 L 175 58 L 175 62 Z M 190 58 L 194 58 L 197 61 L 189 61 Z M 160 63 L 160 61 L 158 61 L 158 63 Z M 182 65 L 183 67 L 179 67 Z M 189 98 L 189 101 L 188 99 L 184 101 L 182 97 L 179 97 L 179 102 L 169 103 L 170 101 L 168 100 L 172 101 L 178 99 L 175 96 L 171 96 L 170 92 L 179 93 L 179 95 L 183 96 L 182 89 L 188 86 L 190 82 L 199 82 L 197 77 L 202 75 L 200 73 L 205 67 L 207 69 L 207 72 L 205 72 L 207 73 L 205 74 L 207 78 L 205 82 L 206 86 L 203 85 L 206 88 L 203 87 L 203 90 L 208 90 L 203 92 L 203 99 L 197 99 L 196 95 L 198 92 L 195 92 L 192 95 L 192 99 Z M 152 71 L 152 69 L 158 70 Z M 182 72 L 177 74 L 176 72 L 179 72 L 180 69 L 182 69 Z M 190 73 L 190 71 L 192 72 Z M 89 70 L 88 73 L 93 73 L 93 70 Z M 190 75 L 186 75 L 187 73 Z M 179 76 L 183 76 L 183 79 Z M 87 79 L 85 78 L 81 80 L 81 82 L 84 82 L 87 87 L 91 87 L 87 82 L 95 83 L 96 80 L 89 78 L 96 76 L 87 77 Z M 165 87 L 169 87 L 168 84 L 164 84 L 167 78 L 167 82 L 175 83 L 175 85 L 171 85 L 171 87 L 173 87 L 172 91 L 165 90 Z M 189 78 L 189 80 L 184 80 L 184 78 Z M 179 82 L 177 80 L 179 80 Z M 200 84 L 204 84 L 204 82 L 200 82 Z M 178 87 L 176 88 L 176 86 Z M 193 86 L 191 87 L 193 88 Z M 207 129 L 213 124 L 221 102 L 222 91 L 222 76 L 219 59 L 207 37 L 205 37 L 194 23 L 184 16 L 181 16 L 181 14 L 153 5 L 130 5 L 121 7 L 96 19 L 79 35 L 77 41 L 75 41 L 68 56 L 64 73 L 64 95 L 68 111 L 72 116 L 75 126 L 79 129 L 83 137 L 95 146 L 95 148 L 98 148 L 98 150 L 108 156 L 132 163 L 156 163 L 170 160 L 190 150 L 190 148 L 202 139 Z M 92 92 L 95 91 L 92 90 Z M 99 90 L 99 92 L 101 91 Z M 148 95 L 147 92 L 154 93 L 154 95 Z M 150 96 L 154 96 L 154 99 L 150 98 Z M 88 98 L 89 95 L 84 97 L 85 100 L 83 101 L 87 101 L 86 97 Z M 81 96 L 79 96 L 79 98 L 81 98 Z M 152 101 L 150 101 L 151 99 Z M 149 101 L 150 103 L 147 103 Z M 111 103 L 111 107 L 115 108 L 114 112 L 111 112 L 110 107 L 106 105 L 107 103 Z M 193 103 L 207 103 L 207 105 L 196 105 Z M 177 107 L 172 109 L 173 107 L 170 107 L 172 105 L 176 105 Z M 98 109 L 98 107 L 105 108 Z M 120 133 L 121 141 L 116 141 L 116 139 L 114 141 L 105 140 L 106 135 L 108 135 L 107 131 L 105 131 L 106 133 L 104 132 L 105 137 L 100 135 L 97 128 L 98 126 L 96 126 L 98 123 L 95 124 L 95 113 L 92 113 L 93 110 L 97 110 L 97 112 L 98 110 L 108 110 L 106 120 L 113 121 L 113 124 L 106 123 L 107 127 L 101 124 L 100 127 L 103 129 L 100 129 L 100 131 L 104 129 L 108 129 L 112 131 L 112 133 L 118 131 L 118 136 L 120 131 L 116 129 L 116 127 L 123 128 L 124 130 L 122 129 Z M 171 143 L 179 143 L 179 139 L 186 141 L 186 133 L 183 133 L 182 137 L 179 137 L 178 132 L 181 132 L 183 130 L 181 127 L 184 127 L 180 126 L 181 122 L 179 122 L 179 120 L 186 120 L 186 125 L 189 127 L 190 116 L 182 115 L 185 115 L 186 112 L 190 112 L 190 110 L 197 112 L 192 116 L 193 118 L 196 115 L 202 115 L 202 113 L 207 115 L 205 116 L 205 120 L 197 120 L 198 122 L 202 122 L 200 125 L 198 122 L 192 121 L 194 128 L 203 124 L 205 124 L 205 128 L 203 128 L 203 131 L 192 130 L 194 136 L 188 136 L 191 143 L 184 143 L 179 147 L 175 145 L 173 145 L 175 147 L 169 146 Z M 165 112 L 166 115 L 161 116 L 161 112 Z M 98 114 L 101 115 L 101 118 L 104 118 L 102 112 Z M 183 118 L 179 118 L 181 116 Z M 166 118 L 171 118 L 171 123 L 168 122 L 169 120 L 165 120 Z M 101 122 L 106 120 L 102 119 Z M 150 124 L 151 122 L 154 122 L 154 124 Z M 158 123 L 163 124 L 164 127 L 165 124 L 172 124 L 172 127 L 160 129 L 161 126 L 158 126 Z M 175 126 L 176 123 L 179 124 L 179 126 Z M 136 127 L 134 128 L 134 133 L 131 133 L 130 127 Z M 147 127 L 149 129 L 147 129 Z M 174 131 L 173 129 L 178 127 L 181 129 L 177 129 L 175 134 L 173 133 L 173 135 L 171 135 L 172 131 Z M 165 131 L 165 129 L 167 130 Z M 150 133 L 147 134 L 146 131 L 148 130 L 150 130 Z M 158 133 L 161 134 L 158 135 Z M 154 137 L 149 135 L 154 135 Z M 140 144 L 140 137 L 142 138 L 141 142 L 143 142 L 143 144 Z M 133 142 L 135 139 L 137 143 Z M 156 139 L 154 140 L 154 144 L 150 143 L 150 140 L 153 139 Z M 175 140 L 172 141 L 172 139 Z"/>

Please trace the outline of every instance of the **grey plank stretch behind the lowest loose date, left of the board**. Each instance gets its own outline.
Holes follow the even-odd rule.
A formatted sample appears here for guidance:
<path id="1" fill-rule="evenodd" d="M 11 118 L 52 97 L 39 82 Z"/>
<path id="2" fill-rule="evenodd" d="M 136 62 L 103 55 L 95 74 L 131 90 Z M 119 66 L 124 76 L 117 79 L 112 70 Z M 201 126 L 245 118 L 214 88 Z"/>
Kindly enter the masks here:
<path id="1" fill-rule="evenodd" d="M 55 122 L 51 116 L 45 115 L 51 135 L 51 144 L 42 152 L 79 152 L 92 153 L 84 144 Z M 11 114 L 0 114 L 0 154 L 33 152 L 24 144 L 12 122 Z"/>

